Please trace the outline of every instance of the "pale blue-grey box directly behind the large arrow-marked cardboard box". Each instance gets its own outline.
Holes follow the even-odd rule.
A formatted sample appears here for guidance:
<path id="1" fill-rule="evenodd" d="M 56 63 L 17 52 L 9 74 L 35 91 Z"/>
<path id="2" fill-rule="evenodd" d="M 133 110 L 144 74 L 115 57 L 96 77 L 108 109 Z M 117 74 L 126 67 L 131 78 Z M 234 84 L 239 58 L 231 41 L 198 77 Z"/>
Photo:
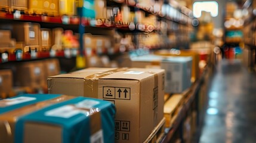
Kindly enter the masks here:
<path id="1" fill-rule="evenodd" d="M 166 93 L 181 93 L 191 86 L 191 57 L 143 55 L 132 58 L 132 67 L 165 69 Z"/>

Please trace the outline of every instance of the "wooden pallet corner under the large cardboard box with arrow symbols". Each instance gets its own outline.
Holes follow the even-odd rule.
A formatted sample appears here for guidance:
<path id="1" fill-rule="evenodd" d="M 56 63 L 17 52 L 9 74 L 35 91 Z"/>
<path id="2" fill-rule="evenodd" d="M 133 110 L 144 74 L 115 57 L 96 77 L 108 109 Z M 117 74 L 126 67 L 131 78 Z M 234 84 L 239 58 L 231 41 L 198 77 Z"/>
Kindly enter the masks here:
<path id="1" fill-rule="evenodd" d="M 149 137 L 144 141 L 144 143 L 155 143 L 161 142 L 165 135 L 165 118 L 156 126 L 156 128 L 150 133 Z"/>

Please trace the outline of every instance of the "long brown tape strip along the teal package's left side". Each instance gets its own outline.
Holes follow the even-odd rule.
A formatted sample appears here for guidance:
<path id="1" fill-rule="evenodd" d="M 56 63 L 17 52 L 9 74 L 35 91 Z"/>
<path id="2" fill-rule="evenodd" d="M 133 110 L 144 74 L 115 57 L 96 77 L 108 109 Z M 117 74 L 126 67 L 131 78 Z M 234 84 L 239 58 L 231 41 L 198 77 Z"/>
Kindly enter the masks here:
<path id="1" fill-rule="evenodd" d="M 27 105 L 25 107 L 18 108 L 13 111 L 9 111 L 7 113 L 0 115 L 0 142 L 14 142 L 14 130 L 15 130 L 15 123 L 18 117 L 24 116 L 28 113 L 33 111 L 40 110 L 41 108 L 47 107 L 49 105 L 63 102 L 67 100 L 71 100 L 71 96 L 61 95 L 60 97 L 53 98 L 47 101 L 41 101 L 35 104 Z"/>

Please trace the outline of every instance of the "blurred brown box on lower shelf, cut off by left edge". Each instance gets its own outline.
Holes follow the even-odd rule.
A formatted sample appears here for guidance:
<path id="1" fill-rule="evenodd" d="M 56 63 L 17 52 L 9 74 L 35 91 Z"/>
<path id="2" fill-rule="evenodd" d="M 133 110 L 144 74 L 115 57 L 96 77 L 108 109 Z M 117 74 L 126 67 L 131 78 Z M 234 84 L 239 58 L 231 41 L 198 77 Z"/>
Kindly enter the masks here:
<path id="1" fill-rule="evenodd" d="M 13 88 L 13 73 L 11 70 L 0 70 L 0 94 L 9 94 Z"/>

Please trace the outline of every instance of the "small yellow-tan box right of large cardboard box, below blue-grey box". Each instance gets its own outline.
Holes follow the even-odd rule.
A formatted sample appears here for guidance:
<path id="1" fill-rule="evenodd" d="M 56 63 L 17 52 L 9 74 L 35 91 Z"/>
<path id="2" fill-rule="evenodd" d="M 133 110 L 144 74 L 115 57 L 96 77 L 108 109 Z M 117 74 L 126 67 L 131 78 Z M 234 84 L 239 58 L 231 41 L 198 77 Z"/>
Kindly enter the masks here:
<path id="1" fill-rule="evenodd" d="M 175 116 L 175 114 L 177 114 L 177 108 L 178 106 L 181 104 L 181 101 L 183 100 L 183 95 L 181 94 L 175 94 L 175 95 L 172 95 L 169 100 L 167 100 L 165 102 L 165 105 L 164 105 L 164 116 L 165 116 L 165 119 L 166 119 L 166 122 L 165 122 L 165 127 L 166 128 L 170 128 L 172 125 L 171 125 L 171 122 L 172 122 L 172 117 Z"/>

